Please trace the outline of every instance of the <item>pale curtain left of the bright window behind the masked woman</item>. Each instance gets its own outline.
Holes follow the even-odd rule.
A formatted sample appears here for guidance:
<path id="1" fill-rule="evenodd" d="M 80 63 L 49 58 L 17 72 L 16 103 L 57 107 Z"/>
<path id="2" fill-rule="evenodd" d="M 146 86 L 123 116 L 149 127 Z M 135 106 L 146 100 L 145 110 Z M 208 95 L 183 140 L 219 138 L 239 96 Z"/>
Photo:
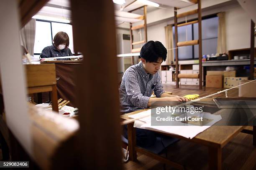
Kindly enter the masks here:
<path id="1" fill-rule="evenodd" d="M 36 19 L 31 19 L 23 28 L 20 30 L 20 41 L 21 45 L 28 50 L 30 55 L 34 55 L 34 44 L 36 37 Z"/>

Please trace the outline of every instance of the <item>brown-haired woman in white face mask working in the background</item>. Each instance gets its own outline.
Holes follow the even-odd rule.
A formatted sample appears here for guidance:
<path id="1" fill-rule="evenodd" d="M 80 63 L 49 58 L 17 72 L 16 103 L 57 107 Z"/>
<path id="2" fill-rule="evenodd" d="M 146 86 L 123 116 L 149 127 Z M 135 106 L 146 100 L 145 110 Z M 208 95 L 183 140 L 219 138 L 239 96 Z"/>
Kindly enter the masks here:
<path id="1" fill-rule="evenodd" d="M 42 51 L 40 57 L 41 58 L 49 58 L 49 57 L 64 57 L 64 56 L 72 56 L 71 50 L 68 48 L 69 46 L 69 36 L 66 32 L 58 32 L 54 36 L 53 45 L 45 47 Z M 62 58 L 60 60 L 69 60 L 69 58 Z"/>

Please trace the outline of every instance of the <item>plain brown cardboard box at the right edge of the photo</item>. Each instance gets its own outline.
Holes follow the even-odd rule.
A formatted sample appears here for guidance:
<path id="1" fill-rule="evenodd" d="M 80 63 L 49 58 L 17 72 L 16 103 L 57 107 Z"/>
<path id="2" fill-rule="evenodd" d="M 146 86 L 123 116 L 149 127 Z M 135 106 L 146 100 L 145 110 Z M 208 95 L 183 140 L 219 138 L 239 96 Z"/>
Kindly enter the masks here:
<path id="1" fill-rule="evenodd" d="M 249 82 L 251 80 L 242 80 L 239 85 Z M 246 85 L 239 86 L 239 97 L 256 97 L 256 81 L 249 82 Z"/>

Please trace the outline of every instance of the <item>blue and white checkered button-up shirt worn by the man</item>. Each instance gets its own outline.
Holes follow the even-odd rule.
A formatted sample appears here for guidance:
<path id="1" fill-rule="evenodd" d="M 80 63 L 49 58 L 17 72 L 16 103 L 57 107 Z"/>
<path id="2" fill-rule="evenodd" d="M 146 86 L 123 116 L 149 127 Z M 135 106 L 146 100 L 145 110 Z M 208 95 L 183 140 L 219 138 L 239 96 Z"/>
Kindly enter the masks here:
<path id="1" fill-rule="evenodd" d="M 164 93 L 159 73 L 147 74 L 142 62 L 129 67 L 120 85 L 121 113 L 146 109 L 153 91 L 156 97 Z"/>

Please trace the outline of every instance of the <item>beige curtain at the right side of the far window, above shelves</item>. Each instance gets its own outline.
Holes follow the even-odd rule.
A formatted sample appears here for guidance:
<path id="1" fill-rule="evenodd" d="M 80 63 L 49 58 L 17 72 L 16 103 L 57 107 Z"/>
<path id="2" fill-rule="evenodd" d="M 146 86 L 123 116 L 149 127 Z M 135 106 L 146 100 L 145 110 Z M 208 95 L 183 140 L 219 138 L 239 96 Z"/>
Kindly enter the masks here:
<path id="1" fill-rule="evenodd" d="M 226 52 L 225 12 L 218 13 L 217 15 L 219 17 L 217 53 L 224 53 Z"/>

